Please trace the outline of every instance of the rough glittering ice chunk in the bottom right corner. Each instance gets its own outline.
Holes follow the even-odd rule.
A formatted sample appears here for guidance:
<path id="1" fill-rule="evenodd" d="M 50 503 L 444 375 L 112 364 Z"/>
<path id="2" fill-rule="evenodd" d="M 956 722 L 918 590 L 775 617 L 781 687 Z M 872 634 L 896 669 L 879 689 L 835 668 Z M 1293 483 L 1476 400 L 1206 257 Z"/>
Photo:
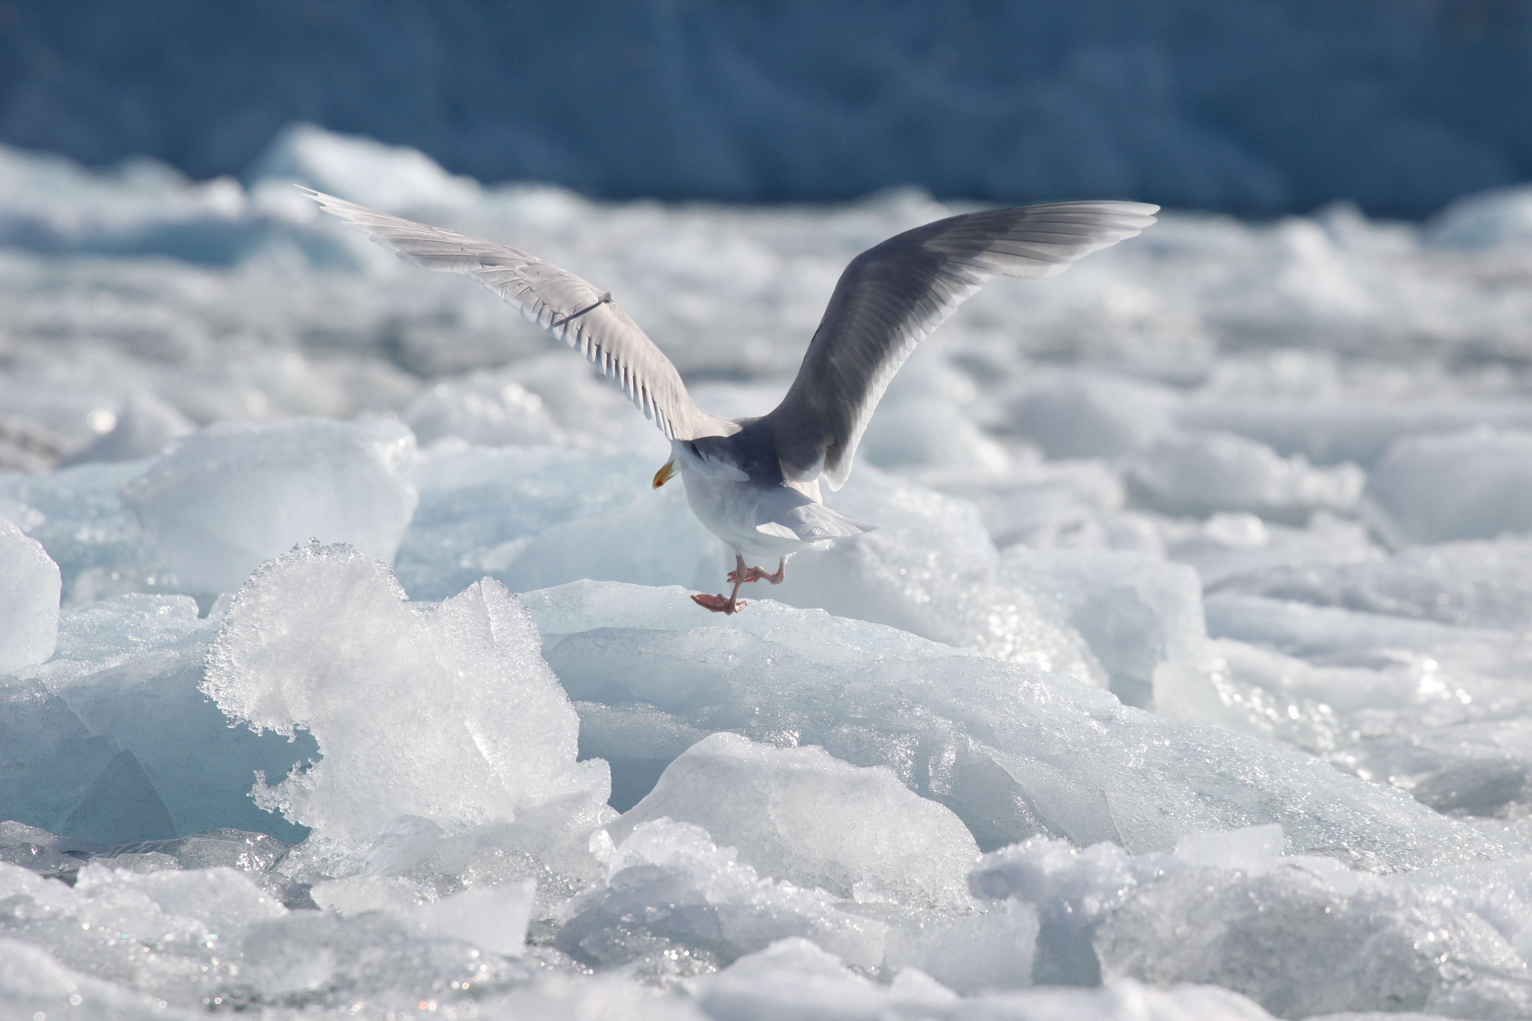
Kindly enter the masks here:
<path id="1" fill-rule="evenodd" d="M 1170 871 L 1112 912 L 1095 948 L 1106 978 L 1213 980 L 1287 1018 L 1506 1016 L 1532 1004 L 1527 966 L 1480 915 L 1301 863 L 1265 876 Z"/>

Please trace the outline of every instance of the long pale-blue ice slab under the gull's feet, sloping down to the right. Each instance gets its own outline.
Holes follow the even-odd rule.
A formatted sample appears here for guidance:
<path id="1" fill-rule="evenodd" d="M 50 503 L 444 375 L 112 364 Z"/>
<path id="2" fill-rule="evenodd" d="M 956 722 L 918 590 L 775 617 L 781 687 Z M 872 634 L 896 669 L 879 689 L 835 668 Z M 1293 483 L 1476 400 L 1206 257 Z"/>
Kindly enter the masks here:
<path id="1" fill-rule="evenodd" d="M 769 602 L 699 621 L 680 589 L 594 582 L 527 603 L 573 698 L 887 765 L 958 813 L 980 848 L 1039 833 L 1169 848 L 1187 833 L 1267 822 L 1296 850 L 1368 868 L 1523 846 L 1311 756 L 876 625 Z"/>

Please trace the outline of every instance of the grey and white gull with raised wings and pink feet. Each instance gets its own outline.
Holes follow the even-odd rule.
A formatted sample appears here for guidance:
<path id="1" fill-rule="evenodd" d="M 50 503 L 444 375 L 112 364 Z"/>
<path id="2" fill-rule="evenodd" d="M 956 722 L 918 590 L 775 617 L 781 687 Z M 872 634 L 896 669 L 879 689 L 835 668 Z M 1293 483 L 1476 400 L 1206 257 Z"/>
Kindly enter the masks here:
<path id="1" fill-rule="evenodd" d="M 734 550 L 729 597 L 692 595 L 720 614 L 746 606 L 748 582 L 778 585 L 792 554 L 873 528 L 826 507 L 820 479 L 832 490 L 846 482 L 867 421 L 915 344 L 991 277 L 1056 276 L 1134 237 L 1160 211 L 1143 202 L 1049 202 L 896 234 L 846 266 L 781 404 L 758 418 L 719 418 L 692 403 L 676 366 L 610 291 L 506 245 L 302 190 L 404 262 L 473 277 L 628 395 L 671 442 L 654 488 L 679 473 L 692 513 Z M 745 554 L 775 557 L 777 569 L 746 566 Z"/>

